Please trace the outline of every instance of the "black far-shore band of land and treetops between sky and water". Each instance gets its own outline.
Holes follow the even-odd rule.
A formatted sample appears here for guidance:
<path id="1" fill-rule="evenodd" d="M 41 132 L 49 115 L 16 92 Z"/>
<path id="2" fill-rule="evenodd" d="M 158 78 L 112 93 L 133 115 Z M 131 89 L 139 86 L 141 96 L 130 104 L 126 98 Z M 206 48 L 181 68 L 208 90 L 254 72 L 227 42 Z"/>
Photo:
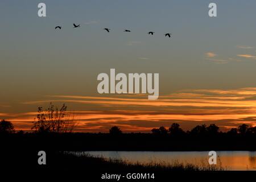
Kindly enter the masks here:
<path id="1" fill-rule="evenodd" d="M 6 121 L 0 122 L 5 123 Z M 11 123 L 9 122 L 11 126 Z M 227 133 L 216 125 L 196 126 L 184 132 L 177 123 L 169 130 L 160 127 L 153 133 L 122 133 L 112 127 L 110 133 L 23 133 L 13 130 L 0 132 L 2 150 L 31 148 L 53 151 L 256 151 L 256 133 L 247 125 Z M 174 129 L 175 128 L 175 129 Z M 210 130 L 214 128 L 216 130 Z"/>

